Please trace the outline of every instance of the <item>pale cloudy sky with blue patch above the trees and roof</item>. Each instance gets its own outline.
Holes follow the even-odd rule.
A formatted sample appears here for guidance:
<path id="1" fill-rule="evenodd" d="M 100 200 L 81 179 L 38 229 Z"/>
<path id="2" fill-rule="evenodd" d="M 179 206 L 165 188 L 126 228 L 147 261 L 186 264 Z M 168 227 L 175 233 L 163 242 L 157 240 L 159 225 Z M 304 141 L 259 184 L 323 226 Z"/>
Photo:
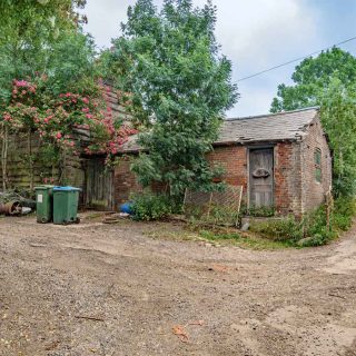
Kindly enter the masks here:
<path id="1" fill-rule="evenodd" d="M 86 30 L 99 48 L 119 36 L 119 23 L 135 0 L 87 0 Z M 155 1 L 158 6 L 160 0 Z M 194 0 L 204 6 L 205 0 Z M 297 63 L 238 82 L 295 58 L 356 36 L 355 0 L 214 0 L 218 8 L 217 39 L 233 61 L 240 99 L 228 117 L 269 111 L 280 82 L 290 82 Z M 356 40 L 342 46 L 356 55 Z"/>

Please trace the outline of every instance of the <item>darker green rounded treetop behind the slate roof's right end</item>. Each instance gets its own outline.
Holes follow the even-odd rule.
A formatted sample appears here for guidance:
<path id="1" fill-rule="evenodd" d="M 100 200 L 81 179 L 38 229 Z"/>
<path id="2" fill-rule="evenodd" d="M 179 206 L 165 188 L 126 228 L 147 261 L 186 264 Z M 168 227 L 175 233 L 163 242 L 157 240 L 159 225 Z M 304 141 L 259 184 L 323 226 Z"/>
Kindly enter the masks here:
<path id="1" fill-rule="evenodd" d="M 316 58 L 307 58 L 296 67 L 291 76 L 294 86 L 278 86 L 270 111 L 295 110 L 320 105 L 324 90 L 333 78 L 348 87 L 356 80 L 356 58 L 334 47 Z"/>

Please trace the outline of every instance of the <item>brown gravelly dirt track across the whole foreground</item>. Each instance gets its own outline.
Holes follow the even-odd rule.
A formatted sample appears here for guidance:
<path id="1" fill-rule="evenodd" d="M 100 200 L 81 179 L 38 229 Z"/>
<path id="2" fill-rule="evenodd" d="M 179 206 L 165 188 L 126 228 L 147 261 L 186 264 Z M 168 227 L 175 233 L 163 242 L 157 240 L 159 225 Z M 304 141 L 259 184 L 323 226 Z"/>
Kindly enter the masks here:
<path id="1" fill-rule="evenodd" d="M 356 229 L 253 251 L 156 228 L 0 220 L 0 355 L 356 355 Z"/>

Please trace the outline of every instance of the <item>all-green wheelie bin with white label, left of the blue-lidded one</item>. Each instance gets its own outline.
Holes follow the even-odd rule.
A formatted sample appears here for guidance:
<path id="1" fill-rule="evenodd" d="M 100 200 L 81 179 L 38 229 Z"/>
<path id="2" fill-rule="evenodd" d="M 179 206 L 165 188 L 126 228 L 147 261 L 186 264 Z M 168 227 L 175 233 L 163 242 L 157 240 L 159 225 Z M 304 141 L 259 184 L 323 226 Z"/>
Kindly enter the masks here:
<path id="1" fill-rule="evenodd" d="M 44 224 L 52 221 L 53 187 L 48 185 L 34 187 L 37 222 Z"/>

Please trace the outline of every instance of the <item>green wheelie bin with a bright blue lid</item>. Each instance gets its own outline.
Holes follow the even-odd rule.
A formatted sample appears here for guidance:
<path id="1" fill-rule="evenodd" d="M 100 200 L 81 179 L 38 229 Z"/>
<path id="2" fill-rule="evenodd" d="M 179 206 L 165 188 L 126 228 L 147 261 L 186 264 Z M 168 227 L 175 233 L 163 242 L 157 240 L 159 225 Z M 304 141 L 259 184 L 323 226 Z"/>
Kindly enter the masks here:
<path id="1" fill-rule="evenodd" d="M 53 224 L 79 222 L 77 217 L 79 191 L 80 189 L 75 187 L 53 188 Z"/>

